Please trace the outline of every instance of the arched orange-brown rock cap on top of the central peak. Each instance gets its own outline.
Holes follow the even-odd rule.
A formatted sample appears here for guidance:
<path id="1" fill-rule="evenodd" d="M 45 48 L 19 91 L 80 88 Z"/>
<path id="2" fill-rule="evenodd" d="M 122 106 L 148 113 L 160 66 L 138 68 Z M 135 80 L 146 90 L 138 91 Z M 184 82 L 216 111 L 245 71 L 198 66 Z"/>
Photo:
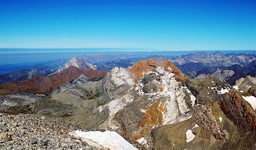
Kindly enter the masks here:
<path id="1" fill-rule="evenodd" d="M 186 75 L 184 75 L 179 68 L 164 58 L 138 61 L 129 69 L 129 71 L 134 75 L 134 82 L 137 83 L 142 79 L 144 73 L 152 71 L 159 66 L 163 67 L 167 72 L 174 73 L 175 79 L 179 82 L 182 82 L 186 78 Z"/>

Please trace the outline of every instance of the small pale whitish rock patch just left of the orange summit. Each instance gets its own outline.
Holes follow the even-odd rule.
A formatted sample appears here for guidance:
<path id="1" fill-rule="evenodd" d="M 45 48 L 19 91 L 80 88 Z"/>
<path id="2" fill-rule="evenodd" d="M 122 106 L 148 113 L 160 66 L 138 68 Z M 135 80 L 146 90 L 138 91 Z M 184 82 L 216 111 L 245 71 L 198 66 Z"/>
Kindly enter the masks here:
<path id="1" fill-rule="evenodd" d="M 111 70 L 111 79 L 117 86 L 122 84 L 133 85 L 134 79 L 129 75 L 127 69 L 115 67 Z"/>

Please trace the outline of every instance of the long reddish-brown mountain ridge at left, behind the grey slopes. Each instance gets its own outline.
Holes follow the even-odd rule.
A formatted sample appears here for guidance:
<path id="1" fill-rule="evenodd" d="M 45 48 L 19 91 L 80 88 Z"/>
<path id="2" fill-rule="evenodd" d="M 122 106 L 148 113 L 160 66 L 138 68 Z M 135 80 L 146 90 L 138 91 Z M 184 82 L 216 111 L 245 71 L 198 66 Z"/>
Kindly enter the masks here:
<path id="1" fill-rule="evenodd" d="M 64 71 L 55 74 L 51 77 L 44 77 L 41 75 L 35 76 L 28 80 L 9 82 L 0 86 L 0 95 L 7 95 L 18 92 L 29 93 L 45 93 L 49 94 L 51 90 L 57 88 L 60 84 L 78 78 L 81 74 L 89 78 L 105 77 L 108 71 L 105 70 L 81 70 L 77 67 L 71 66 Z"/>

